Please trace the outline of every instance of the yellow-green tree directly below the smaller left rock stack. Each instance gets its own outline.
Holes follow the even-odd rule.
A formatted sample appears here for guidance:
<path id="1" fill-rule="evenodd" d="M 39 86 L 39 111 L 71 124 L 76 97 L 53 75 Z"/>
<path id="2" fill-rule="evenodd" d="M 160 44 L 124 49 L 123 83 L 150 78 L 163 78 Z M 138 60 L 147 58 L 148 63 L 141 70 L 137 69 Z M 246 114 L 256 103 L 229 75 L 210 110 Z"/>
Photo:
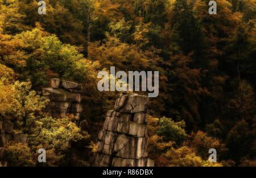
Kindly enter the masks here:
<path id="1" fill-rule="evenodd" d="M 32 151 L 44 148 L 47 151 L 47 163 L 43 165 L 68 165 L 71 159 L 68 154 L 74 143 L 81 140 L 88 142 L 90 135 L 81 131 L 73 122 L 73 115 L 61 118 L 45 117 L 40 119 L 42 130 L 36 137 L 29 139 L 28 145 Z M 68 160 L 68 161 L 67 161 Z"/>

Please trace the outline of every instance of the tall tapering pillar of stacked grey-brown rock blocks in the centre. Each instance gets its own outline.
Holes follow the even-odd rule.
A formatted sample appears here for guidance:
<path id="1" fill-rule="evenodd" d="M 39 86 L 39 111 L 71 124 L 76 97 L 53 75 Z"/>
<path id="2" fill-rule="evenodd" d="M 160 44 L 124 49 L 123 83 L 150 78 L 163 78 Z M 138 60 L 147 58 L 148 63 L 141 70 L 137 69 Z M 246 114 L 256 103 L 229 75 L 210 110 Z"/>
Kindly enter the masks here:
<path id="1" fill-rule="evenodd" d="M 95 166 L 154 166 L 147 158 L 148 97 L 122 93 L 98 134 Z"/>

